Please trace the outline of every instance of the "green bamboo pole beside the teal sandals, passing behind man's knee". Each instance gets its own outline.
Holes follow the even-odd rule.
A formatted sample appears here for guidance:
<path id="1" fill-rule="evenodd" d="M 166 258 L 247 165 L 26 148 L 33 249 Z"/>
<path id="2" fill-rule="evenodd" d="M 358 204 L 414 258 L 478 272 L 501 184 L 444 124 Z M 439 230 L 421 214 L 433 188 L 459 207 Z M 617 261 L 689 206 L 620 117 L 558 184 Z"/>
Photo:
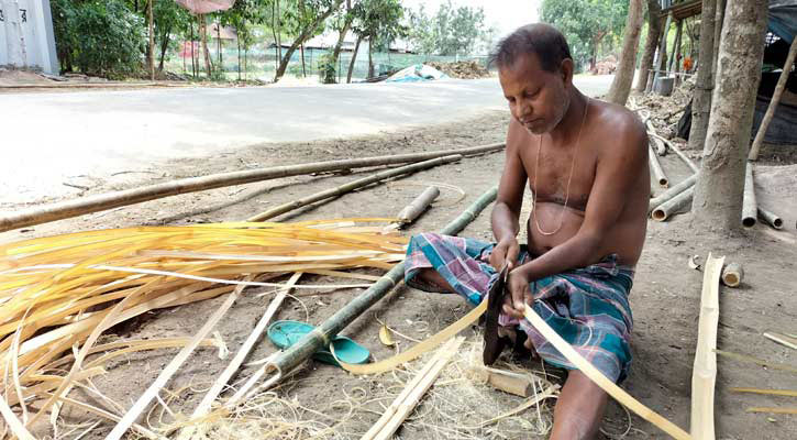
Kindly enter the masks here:
<path id="1" fill-rule="evenodd" d="M 449 223 L 441 233 L 456 235 L 471 223 L 488 205 L 495 201 L 498 187 L 492 187 L 483 194 L 464 212 Z M 272 360 L 267 366 L 268 372 L 275 375 L 268 380 L 268 385 L 275 385 L 285 377 L 284 373 L 292 371 L 305 362 L 314 352 L 325 346 L 341 330 L 357 319 L 365 310 L 385 297 L 402 278 L 405 263 L 399 263 L 385 274 L 368 289 L 352 299 L 345 307 L 337 310 L 332 317 L 322 322 L 312 332 L 308 333 L 285 352 Z"/>

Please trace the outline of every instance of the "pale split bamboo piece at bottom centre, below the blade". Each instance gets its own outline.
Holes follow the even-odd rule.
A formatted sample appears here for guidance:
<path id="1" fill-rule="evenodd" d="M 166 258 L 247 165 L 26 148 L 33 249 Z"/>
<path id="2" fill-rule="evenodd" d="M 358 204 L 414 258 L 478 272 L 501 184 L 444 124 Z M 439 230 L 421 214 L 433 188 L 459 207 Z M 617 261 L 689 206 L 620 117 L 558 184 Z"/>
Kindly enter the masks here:
<path id="1" fill-rule="evenodd" d="M 379 420 L 368 429 L 361 440 L 388 440 L 392 438 L 392 435 L 409 417 L 421 397 L 436 381 L 443 367 L 464 341 L 465 338 L 463 337 L 451 339 L 438 350 L 432 360 L 405 386 L 392 404 L 379 417 Z"/>

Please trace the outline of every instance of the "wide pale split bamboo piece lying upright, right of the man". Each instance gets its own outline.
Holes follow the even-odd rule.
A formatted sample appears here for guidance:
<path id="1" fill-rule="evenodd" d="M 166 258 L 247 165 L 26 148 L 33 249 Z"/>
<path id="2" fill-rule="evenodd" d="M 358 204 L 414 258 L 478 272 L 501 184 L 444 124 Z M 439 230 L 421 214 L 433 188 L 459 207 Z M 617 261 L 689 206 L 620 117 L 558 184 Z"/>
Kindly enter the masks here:
<path id="1" fill-rule="evenodd" d="M 697 351 L 691 373 L 691 436 L 715 439 L 713 395 L 717 382 L 717 326 L 719 324 L 719 282 L 724 256 L 706 260 L 700 295 Z"/>

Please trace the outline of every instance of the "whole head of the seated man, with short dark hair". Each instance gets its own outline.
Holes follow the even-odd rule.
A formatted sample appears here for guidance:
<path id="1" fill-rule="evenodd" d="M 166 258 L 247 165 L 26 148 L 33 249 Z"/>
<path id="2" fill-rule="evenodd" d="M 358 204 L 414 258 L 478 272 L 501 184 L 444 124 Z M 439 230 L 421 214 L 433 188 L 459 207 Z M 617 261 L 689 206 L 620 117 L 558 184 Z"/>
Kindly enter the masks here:
<path id="1" fill-rule="evenodd" d="M 566 113 L 573 86 L 573 59 L 555 28 L 528 24 L 498 43 L 490 56 L 512 117 L 527 130 L 553 130 Z"/>

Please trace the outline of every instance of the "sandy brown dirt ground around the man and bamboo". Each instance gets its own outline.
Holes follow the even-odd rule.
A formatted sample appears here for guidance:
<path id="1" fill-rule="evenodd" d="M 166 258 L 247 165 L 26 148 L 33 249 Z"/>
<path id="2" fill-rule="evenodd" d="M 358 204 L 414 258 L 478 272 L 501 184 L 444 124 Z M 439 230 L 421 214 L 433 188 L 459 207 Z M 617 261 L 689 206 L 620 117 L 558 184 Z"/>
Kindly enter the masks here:
<path id="1" fill-rule="evenodd" d="M 145 183 L 191 177 L 210 173 L 294 164 L 332 158 L 362 157 L 383 154 L 442 150 L 499 142 L 506 134 L 507 112 L 490 112 L 469 120 L 435 125 L 399 133 L 330 140 L 312 143 L 253 145 L 236 151 L 220 151 L 203 160 L 173 161 L 153 164 L 148 169 L 117 176 L 88 176 L 89 190 L 76 188 L 75 196 L 99 194 L 129 188 Z M 773 153 L 774 154 L 774 153 Z M 662 164 L 675 184 L 685 178 L 688 168 L 675 155 L 662 157 Z M 777 161 L 774 161 L 777 162 Z M 285 215 L 278 220 L 309 220 L 346 217 L 391 217 L 422 190 L 423 185 L 444 183 L 465 191 L 458 200 L 456 191 L 442 189 L 441 199 L 406 234 L 441 229 L 455 218 L 480 194 L 495 185 L 500 175 L 502 154 L 465 158 L 456 164 L 417 173 L 387 185 L 373 186 L 347 194 L 334 200 Z M 220 188 L 203 193 L 170 197 L 136 206 L 98 212 L 77 219 L 11 231 L 0 234 L 0 242 L 51 235 L 78 230 L 119 228 L 135 224 L 190 224 L 195 222 L 230 221 L 250 217 L 266 208 L 292 200 L 302 195 L 337 186 L 370 170 L 354 175 L 300 176 Z M 797 296 L 793 272 L 797 261 L 797 165 L 765 165 L 757 168 L 759 198 L 765 207 L 784 218 L 785 229 L 774 231 L 759 224 L 741 235 L 706 235 L 690 223 L 688 215 L 676 216 L 668 222 L 649 223 L 644 253 L 637 267 L 631 294 L 634 314 L 633 364 L 630 377 L 622 384 L 631 395 L 680 427 L 689 425 L 689 396 L 691 365 L 697 338 L 697 319 L 702 274 L 690 270 L 687 258 L 700 255 L 705 261 L 709 252 L 726 255 L 727 261 L 744 265 L 745 278 L 739 288 L 721 288 L 718 345 L 724 351 L 744 353 L 782 364 L 795 364 L 795 351 L 775 344 L 762 337 L 765 331 L 797 333 Z M 657 190 L 656 190 L 657 193 Z M 36 204 L 49 201 L 46 198 Z M 527 204 L 528 205 L 528 204 Z M 21 205 L 2 204 L 0 210 L 13 210 Z M 528 209 L 528 207 L 527 207 Z M 489 208 L 461 234 L 489 240 Z M 302 278 L 306 282 L 311 277 Z M 244 297 L 231 309 L 218 328 L 231 352 L 245 340 L 262 315 L 268 298 L 259 298 L 258 289 L 245 290 Z M 307 320 L 318 324 L 345 305 L 359 290 L 337 290 L 286 301 L 277 319 Z M 113 329 L 109 339 L 192 336 L 222 298 L 152 312 L 134 322 Z M 425 294 L 400 286 L 363 317 L 345 329 L 344 334 L 369 349 L 375 359 L 394 354 L 377 337 L 379 323 L 388 323 L 403 336 L 421 340 L 461 318 L 469 306 L 458 297 Z M 477 348 L 478 329 L 465 331 L 468 344 Z M 413 342 L 396 337 L 399 349 Z M 261 360 L 275 348 L 263 341 L 250 360 Z M 108 365 L 108 374 L 95 381 L 108 397 L 128 407 L 152 383 L 159 370 L 175 355 L 176 350 L 162 350 L 130 355 Z M 423 361 L 412 363 L 418 370 Z M 226 361 L 217 356 L 214 349 L 199 350 L 169 383 L 174 395 L 164 394 L 171 411 L 190 414 L 201 398 L 202 391 L 223 370 Z M 522 367 L 539 365 L 520 363 Z M 235 378 L 245 380 L 256 366 L 247 366 Z M 449 372 L 445 383 L 461 381 L 456 372 Z M 300 436 L 294 438 L 359 438 L 390 403 L 397 387 L 408 380 L 407 373 L 357 377 L 340 369 L 310 362 L 291 381 L 276 389 L 272 397 L 285 399 L 280 405 L 268 402 L 230 421 L 210 438 L 264 438 L 263 429 L 276 429 L 263 416 L 280 415 L 286 420 L 305 424 Z M 453 382 L 452 382 L 453 381 Z M 433 389 L 445 388 L 442 384 Z M 731 393 L 730 387 L 797 388 L 797 377 L 784 371 L 751 363 L 719 358 L 716 392 L 716 417 L 719 439 L 790 439 L 797 432 L 797 417 L 787 415 L 751 414 L 748 407 L 795 406 L 794 398 Z M 77 392 L 75 392 L 77 393 Z M 435 392 L 436 393 L 436 392 Z M 521 414 L 519 420 L 471 429 L 480 421 L 511 409 L 523 402 L 520 397 L 498 391 L 480 388 L 479 393 L 432 394 L 398 431 L 403 439 L 468 438 L 468 439 L 529 439 L 544 438 L 534 432 L 544 431 L 541 420 L 550 422 L 547 400 L 542 417 L 532 409 Z M 93 397 L 74 394 L 81 399 Z M 170 396 L 170 397 L 169 397 Z M 175 397 L 176 396 L 176 397 Z M 169 398 L 167 398 L 169 397 Z M 95 400 L 96 402 L 96 400 Z M 288 404 L 286 404 L 287 402 Z M 433 407 L 449 407 L 435 411 Z M 165 411 L 160 406 L 147 420 L 157 426 Z M 63 414 L 65 426 L 85 419 L 85 414 L 68 409 Z M 170 420 L 166 414 L 165 420 Z M 536 420 L 531 424 L 524 420 Z M 142 421 L 146 422 L 146 421 Z M 237 425 L 235 425 L 237 424 Z M 543 424 L 544 425 L 544 424 Z M 87 438 L 101 438 L 110 424 L 93 428 Z M 258 428 L 259 427 L 259 428 Z M 268 428 L 272 427 L 272 428 Z M 332 427 L 331 429 L 324 429 Z M 543 427 L 544 428 L 544 427 Z M 637 416 L 630 419 L 617 404 L 612 404 L 605 420 L 608 435 L 602 438 L 658 439 L 665 436 Z M 258 429 L 261 429 L 258 431 Z M 687 429 L 688 430 L 688 429 Z M 66 428 L 64 428 L 66 432 Z M 626 432 L 624 437 L 621 435 Z M 68 436 L 66 436 L 68 438 Z"/>

